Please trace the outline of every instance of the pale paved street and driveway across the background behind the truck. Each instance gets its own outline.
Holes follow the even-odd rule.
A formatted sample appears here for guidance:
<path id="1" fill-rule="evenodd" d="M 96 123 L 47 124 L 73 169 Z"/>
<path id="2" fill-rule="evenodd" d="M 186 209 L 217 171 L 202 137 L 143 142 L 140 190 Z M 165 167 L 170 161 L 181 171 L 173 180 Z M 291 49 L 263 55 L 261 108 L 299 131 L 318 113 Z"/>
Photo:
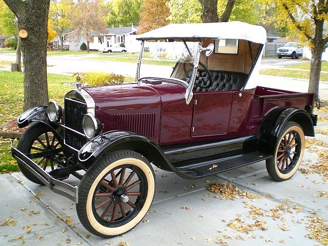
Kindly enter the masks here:
<path id="1" fill-rule="evenodd" d="M 73 74 L 75 72 L 113 72 L 116 74 L 122 74 L 127 76 L 135 76 L 136 64 L 134 63 L 117 63 L 114 61 L 99 61 L 91 60 L 91 58 L 97 56 L 96 54 L 90 55 L 65 55 L 65 56 L 48 56 L 48 72 L 56 74 Z M 15 60 L 14 53 L 0 54 L 0 60 Z M 283 68 L 284 66 L 304 63 L 300 59 L 262 59 L 261 69 L 269 68 Z M 160 74 L 163 67 L 158 65 L 142 65 L 146 66 L 147 70 L 158 71 Z M 261 86 L 270 88 L 291 90 L 298 92 L 307 92 L 309 88 L 309 80 L 307 79 L 293 79 L 288 77 L 259 75 Z M 320 82 L 319 85 L 320 98 L 328 100 L 328 83 Z"/>

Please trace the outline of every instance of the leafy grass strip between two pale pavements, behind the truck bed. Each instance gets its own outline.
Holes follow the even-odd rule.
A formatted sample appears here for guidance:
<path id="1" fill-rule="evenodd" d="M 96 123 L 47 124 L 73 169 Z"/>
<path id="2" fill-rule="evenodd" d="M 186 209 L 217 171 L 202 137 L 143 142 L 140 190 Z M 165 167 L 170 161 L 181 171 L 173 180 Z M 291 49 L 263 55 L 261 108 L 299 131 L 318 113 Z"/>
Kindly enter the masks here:
<path id="1" fill-rule="evenodd" d="M 272 76 L 282 76 L 282 77 L 291 77 L 291 78 L 310 78 L 310 71 L 297 71 L 297 70 L 286 70 L 286 69 L 261 69 L 260 74 L 272 75 Z M 321 73 L 320 80 L 328 81 L 328 74 Z"/>

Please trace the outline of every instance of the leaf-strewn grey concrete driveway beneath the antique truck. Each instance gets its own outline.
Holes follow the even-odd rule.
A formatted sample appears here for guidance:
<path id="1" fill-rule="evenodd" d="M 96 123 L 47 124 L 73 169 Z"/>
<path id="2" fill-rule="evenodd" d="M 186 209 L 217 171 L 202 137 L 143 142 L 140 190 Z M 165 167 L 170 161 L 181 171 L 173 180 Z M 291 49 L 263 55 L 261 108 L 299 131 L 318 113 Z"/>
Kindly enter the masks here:
<path id="1" fill-rule="evenodd" d="M 318 128 L 326 127 L 321 124 Z M 317 134 L 317 138 L 328 144 L 327 136 Z M 318 162 L 318 152 L 314 151 L 326 148 L 308 148 L 300 168 L 309 169 Z M 67 198 L 35 185 L 21 173 L 0 175 L 0 245 L 20 245 L 23 241 L 31 246 L 199 246 L 217 245 L 217 241 L 218 245 L 230 246 L 321 245 L 306 236 L 314 233 L 307 227 L 323 225 L 313 223 L 313 217 L 328 221 L 327 193 L 320 193 L 327 192 L 327 183 L 319 174 L 297 172 L 288 181 L 275 182 L 264 162 L 197 180 L 159 169 L 155 174 L 156 195 L 149 214 L 132 231 L 110 239 L 90 235 L 77 218 L 75 204 Z M 230 182 L 260 198 L 244 193 L 251 198 L 237 195 L 235 200 L 222 200 L 207 190 L 212 182 Z"/>

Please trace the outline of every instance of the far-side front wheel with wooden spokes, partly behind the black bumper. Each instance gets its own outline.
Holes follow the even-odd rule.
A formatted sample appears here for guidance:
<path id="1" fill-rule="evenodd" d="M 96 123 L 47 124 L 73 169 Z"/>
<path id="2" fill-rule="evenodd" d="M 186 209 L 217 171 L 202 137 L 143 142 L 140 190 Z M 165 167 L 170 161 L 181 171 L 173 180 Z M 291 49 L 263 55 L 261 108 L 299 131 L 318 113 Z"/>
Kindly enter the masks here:
<path id="1" fill-rule="evenodd" d="M 54 158 L 58 157 L 61 152 L 62 140 L 51 127 L 42 122 L 35 122 L 19 138 L 17 149 L 37 163 L 38 166 L 46 170 L 54 170 Z M 23 175 L 34 183 L 43 185 L 29 170 L 24 168 L 22 163 L 17 161 L 18 167 Z"/>

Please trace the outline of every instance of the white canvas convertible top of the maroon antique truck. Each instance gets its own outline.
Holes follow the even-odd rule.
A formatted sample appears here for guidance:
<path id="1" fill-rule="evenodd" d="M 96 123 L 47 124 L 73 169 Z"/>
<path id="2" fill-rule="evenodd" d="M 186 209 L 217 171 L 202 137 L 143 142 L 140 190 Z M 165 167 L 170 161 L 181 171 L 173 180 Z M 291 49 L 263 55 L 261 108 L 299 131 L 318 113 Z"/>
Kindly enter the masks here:
<path id="1" fill-rule="evenodd" d="M 267 31 L 243 22 L 171 24 L 137 35 L 137 40 L 170 38 L 245 39 L 264 44 Z"/>

